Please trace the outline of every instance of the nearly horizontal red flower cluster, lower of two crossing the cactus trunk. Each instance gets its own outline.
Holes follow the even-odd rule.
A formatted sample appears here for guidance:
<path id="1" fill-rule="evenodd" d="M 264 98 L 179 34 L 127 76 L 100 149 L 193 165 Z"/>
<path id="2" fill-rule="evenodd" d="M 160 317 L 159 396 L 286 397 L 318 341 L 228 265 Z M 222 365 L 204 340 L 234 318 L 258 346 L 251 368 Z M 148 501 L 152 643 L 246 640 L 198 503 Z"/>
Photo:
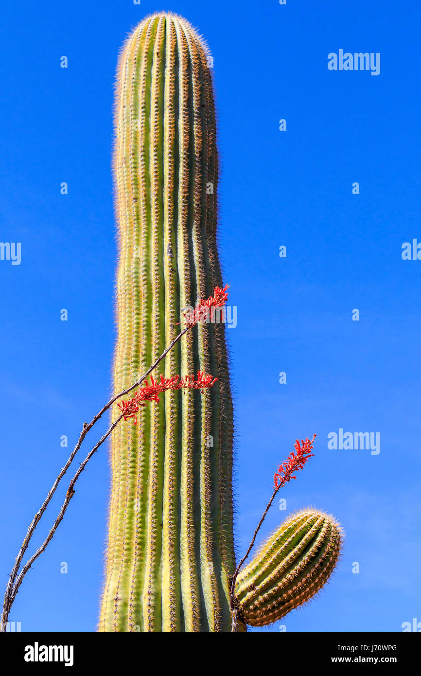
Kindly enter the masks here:
<path id="1" fill-rule="evenodd" d="M 184 376 L 180 379 L 180 376 L 172 376 L 171 378 L 164 378 L 163 375 L 159 377 L 159 380 L 155 380 L 151 376 L 151 384 L 149 385 L 148 381 L 145 381 L 145 384 L 139 389 L 139 391 L 134 392 L 134 395 L 129 400 L 123 400 L 117 404 L 118 408 L 123 414 L 124 420 L 127 418 L 134 418 L 134 425 L 137 424 L 136 414 L 139 411 L 141 406 L 145 406 L 145 402 L 159 402 L 159 394 L 166 392 L 168 389 L 201 389 L 202 394 L 205 389 L 212 387 L 217 381 L 217 378 L 213 378 L 210 375 L 205 375 L 203 371 L 197 371 L 197 379 L 195 380 L 194 376 Z"/>

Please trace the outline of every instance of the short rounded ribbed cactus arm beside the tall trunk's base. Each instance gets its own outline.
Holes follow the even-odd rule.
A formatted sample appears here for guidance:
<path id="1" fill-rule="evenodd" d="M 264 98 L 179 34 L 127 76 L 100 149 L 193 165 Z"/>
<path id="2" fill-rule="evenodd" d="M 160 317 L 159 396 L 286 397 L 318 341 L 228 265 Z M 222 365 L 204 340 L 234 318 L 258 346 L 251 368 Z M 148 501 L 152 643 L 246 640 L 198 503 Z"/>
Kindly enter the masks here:
<path id="1" fill-rule="evenodd" d="M 270 624 L 317 594 L 335 568 L 341 535 L 339 524 L 318 510 L 287 518 L 237 578 L 243 620 Z"/>

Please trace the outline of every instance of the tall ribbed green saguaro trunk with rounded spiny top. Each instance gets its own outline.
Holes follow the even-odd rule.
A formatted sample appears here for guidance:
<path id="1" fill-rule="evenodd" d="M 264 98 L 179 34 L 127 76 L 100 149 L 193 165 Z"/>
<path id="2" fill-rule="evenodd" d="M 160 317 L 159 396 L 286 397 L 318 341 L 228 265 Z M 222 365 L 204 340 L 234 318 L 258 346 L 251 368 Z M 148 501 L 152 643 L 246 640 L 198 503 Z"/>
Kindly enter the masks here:
<path id="1" fill-rule="evenodd" d="M 177 335 L 182 308 L 222 285 L 208 57 L 191 25 L 172 14 L 141 22 L 120 57 L 116 393 Z M 141 410 L 136 426 L 123 423 L 112 435 L 99 631 L 230 631 L 232 402 L 224 325 L 199 324 L 162 363 L 166 377 L 200 369 L 218 383 L 205 396 L 167 392 Z M 113 418 L 118 413 L 114 406 Z"/>

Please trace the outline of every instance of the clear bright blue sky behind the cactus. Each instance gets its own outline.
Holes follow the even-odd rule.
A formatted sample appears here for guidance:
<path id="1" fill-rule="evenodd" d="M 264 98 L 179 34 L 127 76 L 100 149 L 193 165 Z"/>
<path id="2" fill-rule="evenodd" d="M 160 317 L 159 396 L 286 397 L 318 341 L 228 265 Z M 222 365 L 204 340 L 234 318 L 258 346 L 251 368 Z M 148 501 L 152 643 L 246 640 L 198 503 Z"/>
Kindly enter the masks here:
<path id="1" fill-rule="evenodd" d="M 272 508 L 264 533 L 286 513 L 316 506 L 343 523 L 346 546 L 321 596 L 284 625 L 401 631 L 421 621 L 421 261 L 401 258 L 403 242 L 421 241 L 415 0 L 3 5 L 0 241 L 22 243 L 19 266 L 0 261 L 3 583 L 68 456 L 61 435 L 72 445 L 109 393 L 116 57 L 130 28 L 161 9 L 189 19 L 214 55 L 220 254 L 238 307 L 228 331 L 237 550 L 251 538 L 278 462 L 295 437 L 316 432 L 316 456 L 284 489 L 287 512 Z M 329 71 L 328 53 L 339 49 L 380 52 L 380 75 Z M 328 433 L 340 428 L 380 432 L 380 454 L 329 450 Z M 11 614 L 22 631 L 95 630 L 108 485 L 103 447 L 22 585 Z"/>

